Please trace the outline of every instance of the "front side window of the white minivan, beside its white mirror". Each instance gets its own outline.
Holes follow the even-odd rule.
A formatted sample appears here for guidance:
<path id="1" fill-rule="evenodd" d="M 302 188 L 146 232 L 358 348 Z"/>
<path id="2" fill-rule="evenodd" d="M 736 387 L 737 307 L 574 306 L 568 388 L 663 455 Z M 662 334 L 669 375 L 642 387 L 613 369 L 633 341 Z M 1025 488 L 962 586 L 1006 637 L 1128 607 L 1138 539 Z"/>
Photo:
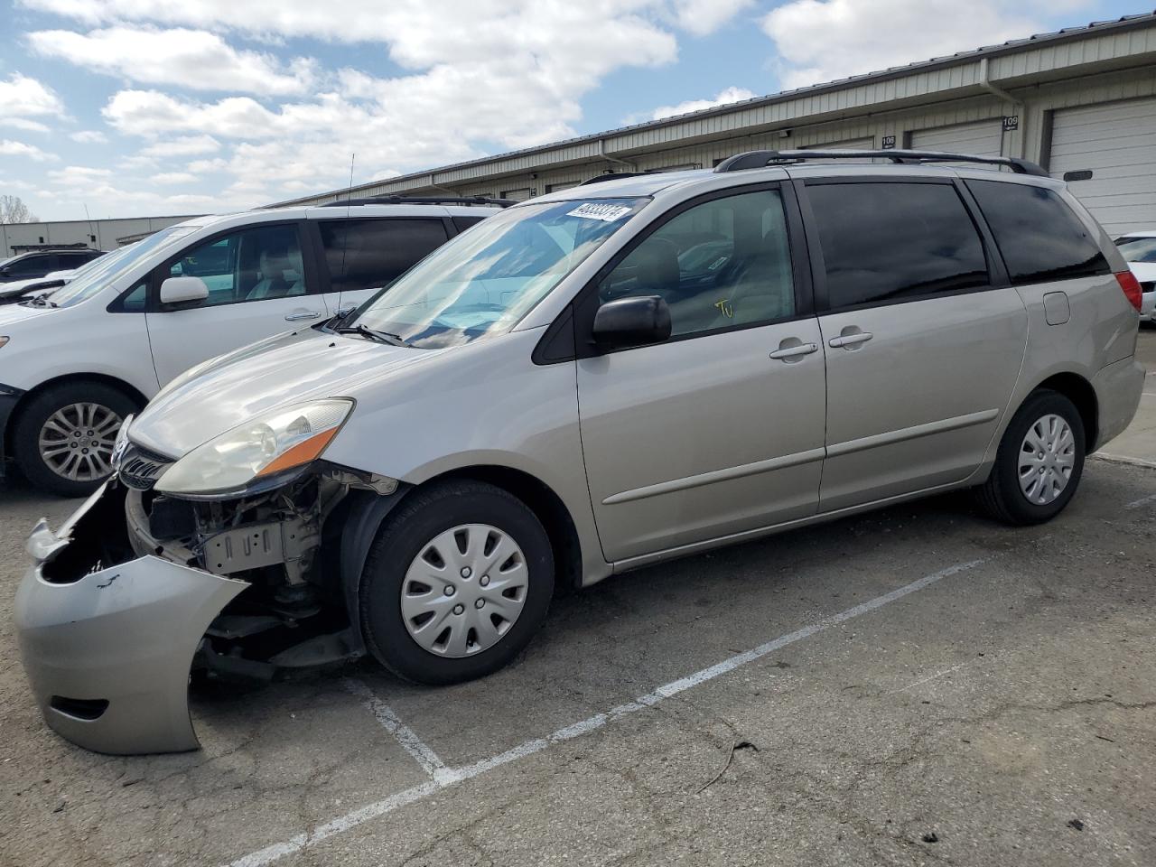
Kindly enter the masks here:
<path id="1" fill-rule="evenodd" d="M 203 280 L 209 289 L 203 307 L 304 295 L 297 227 L 258 225 L 200 244 L 161 275 L 170 276 Z"/>

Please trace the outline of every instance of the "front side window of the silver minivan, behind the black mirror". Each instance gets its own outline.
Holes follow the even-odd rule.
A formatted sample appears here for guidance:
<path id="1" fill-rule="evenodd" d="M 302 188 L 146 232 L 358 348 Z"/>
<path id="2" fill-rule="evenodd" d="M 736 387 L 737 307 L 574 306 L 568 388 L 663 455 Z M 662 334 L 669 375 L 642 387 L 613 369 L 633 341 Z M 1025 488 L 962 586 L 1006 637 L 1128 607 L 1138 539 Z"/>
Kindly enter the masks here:
<path id="1" fill-rule="evenodd" d="M 599 302 L 658 295 L 672 336 L 794 316 L 794 279 L 777 190 L 696 205 L 660 225 L 599 286 Z"/>

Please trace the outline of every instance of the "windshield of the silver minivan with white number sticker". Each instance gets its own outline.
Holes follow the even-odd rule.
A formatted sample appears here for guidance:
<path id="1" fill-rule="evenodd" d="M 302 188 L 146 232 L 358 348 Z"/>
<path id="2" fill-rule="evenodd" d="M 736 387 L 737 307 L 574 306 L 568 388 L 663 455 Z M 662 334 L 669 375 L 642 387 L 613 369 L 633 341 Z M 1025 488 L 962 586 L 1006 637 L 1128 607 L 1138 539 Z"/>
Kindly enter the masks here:
<path id="1" fill-rule="evenodd" d="M 647 199 L 524 205 L 430 253 L 347 325 L 436 349 L 512 328 Z"/>

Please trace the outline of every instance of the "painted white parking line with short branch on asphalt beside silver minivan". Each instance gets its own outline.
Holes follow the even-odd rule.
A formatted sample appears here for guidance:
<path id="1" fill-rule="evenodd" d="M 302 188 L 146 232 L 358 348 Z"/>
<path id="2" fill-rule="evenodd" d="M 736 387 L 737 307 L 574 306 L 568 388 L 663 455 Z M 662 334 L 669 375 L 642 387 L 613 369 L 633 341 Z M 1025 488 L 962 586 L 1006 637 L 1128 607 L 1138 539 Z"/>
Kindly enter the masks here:
<path id="1" fill-rule="evenodd" d="M 917 581 L 912 581 L 911 584 L 905 584 L 897 590 L 892 590 L 890 593 L 875 596 L 862 605 L 857 605 L 853 608 L 847 608 L 838 614 L 823 617 L 808 627 L 796 629 L 794 632 L 788 632 L 787 635 L 779 636 L 778 638 L 766 642 L 765 644 L 761 644 L 749 651 L 738 653 L 722 660 L 721 662 L 710 666 L 709 668 L 703 668 L 694 674 L 687 675 L 686 677 L 680 677 L 676 681 L 666 683 L 646 695 L 638 696 L 638 698 L 633 702 L 621 704 L 617 707 L 612 707 L 605 713 L 595 713 L 593 717 L 588 717 L 587 719 L 560 728 L 547 738 L 536 738 L 534 740 L 526 741 L 525 743 L 520 743 L 505 753 L 491 756 L 490 758 L 483 758 L 480 762 L 464 765 L 461 768 L 445 768 L 442 765 L 440 759 L 437 759 L 437 756 L 433 755 L 432 750 L 422 743 L 417 735 L 415 735 L 408 726 L 402 724 L 384 703 L 377 699 L 365 684 L 360 683 L 360 681 L 347 681 L 347 688 L 350 689 L 350 691 L 354 691 L 356 695 L 365 698 L 366 703 L 370 701 L 377 703 L 370 707 L 375 714 L 378 713 L 379 709 L 385 709 L 388 712 L 388 716 L 384 719 L 381 716 L 378 716 L 378 719 L 381 720 L 381 725 L 398 736 L 401 746 L 409 750 L 410 755 L 414 755 L 418 762 L 423 762 L 423 759 L 418 757 L 418 753 L 424 751 L 424 755 L 427 756 L 425 761 L 429 761 L 429 756 L 433 756 L 433 759 L 438 762 L 439 766 L 439 770 L 435 769 L 429 771 L 433 779 L 429 783 L 422 783 L 418 786 L 414 786 L 413 788 L 407 788 L 403 792 L 392 794 L 380 801 L 369 803 L 360 809 L 353 810 L 351 813 L 347 813 L 343 816 L 339 816 L 329 822 L 326 822 L 325 824 L 318 825 L 312 831 L 295 835 L 282 843 L 274 843 L 273 845 L 260 849 L 257 852 L 251 852 L 250 854 L 232 861 L 229 867 L 264 867 L 264 865 L 273 864 L 288 854 L 299 852 L 307 846 L 320 843 L 321 840 L 333 837 L 334 835 L 342 833 L 343 831 L 348 831 L 357 825 L 369 822 L 370 820 L 384 816 L 387 813 L 393 813 L 406 805 L 428 798 L 429 795 L 447 788 L 449 786 L 457 785 L 464 780 L 487 773 L 488 771 L 499 768 L 501 765 L 516 762 L 535 753 L 540 753 L 551 743 L 558 743 L 561 741 L 568 741 L 572 738 L 588 734 L 590 732 L 601 728 L 607 722 L 617 719 L 618 717 L 624 717 L 645 707 L 652 707 L 659 702 L 688 690 L 691 687 L 697 687 L 702 683 L 714 680 L 716 677 L 727 674 L 728 672 L 733 672 L 740 666 L 754 662 L 756 659 L 761 659 L 768 653 L 773 653 L 777 650 L 786 647 L 788 644 L 801 642 L 803 638 L 810 638 L 813 635 L 817 635 L 818 632 L 823 632 L 832 627 L 837 627 L 852 617 L 858 617 L 861 614 L 867 614 L 877 608 L 882 608 L 885 605 L 890 605 L 891 602 L 903 599 L 904 596 L 917 591 L 924 590 L 943 578 L 949 578 L 953 575 L 958 575 L 959 572 L 964 572 L 969 569 L 975 569 L 983 562 L 983 560 L 973 560 L 968 563 L 957 563 L 954 566 L 948 566 L 939 572 L 920 578 Z M 350 683 L 354 686 L 350 686 Z M 364 692 L 357 692 L 358 687 L 364 689 Z M 401 729 L 408 733 L 408 735 L 406 735 L 407 739 L 409 736 L 413 738 L 409 746 L 407 746 L 407 741 L 402 740 L 402 738 L 398 734 Z M 414 746 L 414 742 L 416 742 L 416 744 L 421 744 L 420 749 Z M 414 749 L 418 749 L 418 753 L 415 753 L 412 747 Z M 425 766 L 424 762 L 422 766 Z"/>

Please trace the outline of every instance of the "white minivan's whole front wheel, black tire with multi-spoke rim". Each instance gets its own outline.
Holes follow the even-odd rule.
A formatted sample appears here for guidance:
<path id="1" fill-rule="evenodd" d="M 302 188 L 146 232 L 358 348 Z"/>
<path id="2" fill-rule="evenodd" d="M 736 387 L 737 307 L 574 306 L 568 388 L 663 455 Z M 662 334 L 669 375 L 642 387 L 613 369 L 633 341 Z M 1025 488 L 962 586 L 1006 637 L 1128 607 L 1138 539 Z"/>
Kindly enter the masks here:
<path id="1" fill-rule="evenodd" d="M 83 409 L 82 409 L 83 408 Z M 53 385 L 35 394 L 20 409 L 12 429 L 12 457 L 21 474 L 35 487 L 62 497 L 83 497 L 91 494 L 111 472 L 112 443 L 120 422 L 140 409 L 138 402 L 119 388 L 104 383 L 72 381 Z M 62 431 L 61 416 L 75 422 L 74 431 Z M 80 413 L 88 413 L 87 416 Z M 53 416 L 57 416 L 53 420 Z M 92 428 L 82 427 L 83 418 L 95 420 Z M 89 438 L 88 431 L 92 430 Z M 80 433 L 68 436 L 69 433 Z M 53 468 L 42 454 L 42 433 L 57 449 L 58 464 Z M 57 445 L 59 443 L 59 445 Z M 94 447 L 96 443 L 96 447 Z M 62 451 L 61 451 L 62 450 Z M 68 477 L 67 473 L 73 473 Z"/>

